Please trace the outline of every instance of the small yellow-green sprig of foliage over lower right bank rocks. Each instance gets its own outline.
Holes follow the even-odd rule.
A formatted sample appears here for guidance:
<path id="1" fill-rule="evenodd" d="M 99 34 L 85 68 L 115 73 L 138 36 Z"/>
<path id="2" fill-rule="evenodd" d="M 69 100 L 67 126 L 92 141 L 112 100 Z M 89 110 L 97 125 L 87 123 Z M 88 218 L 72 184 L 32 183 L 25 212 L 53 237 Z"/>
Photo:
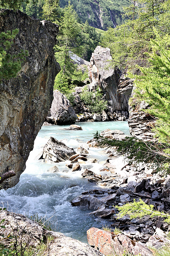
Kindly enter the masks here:
<path id="1" fill-rule="evenodd" d="M 125 215 L 129 215 L 131 219 L 133 218 L 142 218 L 145 216 L 150 216 L 151 218 L 161 216 L 164 217 L 165 222 L 170 222 L 170 215 L 164 212 L 159 212 L 154 210 L 154 205 L 145 204 L 141 198 L 139 202 L 136 202 L 134 199 L 133 203 L 127 203 L 123 206 L 115 206 L 119 210 L 118 218 L 121 218 Z"/>

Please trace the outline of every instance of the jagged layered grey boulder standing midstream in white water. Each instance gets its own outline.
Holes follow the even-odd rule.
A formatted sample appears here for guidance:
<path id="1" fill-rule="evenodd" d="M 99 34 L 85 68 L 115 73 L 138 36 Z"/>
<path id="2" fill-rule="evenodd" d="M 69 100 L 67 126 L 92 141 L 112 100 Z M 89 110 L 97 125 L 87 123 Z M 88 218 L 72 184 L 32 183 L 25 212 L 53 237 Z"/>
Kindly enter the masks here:
<path id="1" fill-rule="evenodd" d="M 63 142 L 60 142 L 53 137 L 50 137 L 43 148 L 43 158 L 53 162 L 68 160 L 70 156 L 75 153 L 76 152 L 72 148 L 67 147 Z"/>

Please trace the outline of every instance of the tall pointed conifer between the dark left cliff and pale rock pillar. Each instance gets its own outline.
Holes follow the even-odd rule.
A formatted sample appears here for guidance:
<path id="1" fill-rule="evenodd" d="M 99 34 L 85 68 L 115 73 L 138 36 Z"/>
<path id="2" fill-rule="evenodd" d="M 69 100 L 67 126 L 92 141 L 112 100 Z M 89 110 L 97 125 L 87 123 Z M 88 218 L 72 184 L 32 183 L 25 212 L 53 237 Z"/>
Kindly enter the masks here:
<path id="1" fill-rule="evenodd" d="M 57 38 L 58 43 L 55 46 L 55 56 L 61 66 L 61 72 L 56 76 L 55 80 L 55 88 L 58 88 L 59 90 L 64 91 L 64 87 L 68 87 L 67 78 L 71 78 L 73 74 L 76 75 L 76 66 L 70 59 L 70 55 L 72 52 L 78 52 L 79 35 L 80 27 L 76 22 L 74 10 L 69 2 L 68 6 L 64 8 L 60 35 Z"/>

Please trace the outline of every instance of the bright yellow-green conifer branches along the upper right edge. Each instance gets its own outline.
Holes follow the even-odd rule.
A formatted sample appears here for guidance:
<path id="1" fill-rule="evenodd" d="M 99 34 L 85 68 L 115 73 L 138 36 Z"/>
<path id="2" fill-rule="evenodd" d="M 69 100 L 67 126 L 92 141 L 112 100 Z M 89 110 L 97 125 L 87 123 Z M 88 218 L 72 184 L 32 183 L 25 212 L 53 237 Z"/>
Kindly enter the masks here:
<path id="1" fill-rule="evenodd" d="M 141 68 L 135 78 L 137 86 L 135 97 L 150 105 L 149 114 L 158 118 L 154 131 L 160 142 L 170 145 L 170 45 L 169 36 L 151 40 L 152 53 L 149 54 L 150 66 Z M 166 150 L 166 153 L 168 151 Z M 170 153 L 170 151 L 169 151 Z"/>

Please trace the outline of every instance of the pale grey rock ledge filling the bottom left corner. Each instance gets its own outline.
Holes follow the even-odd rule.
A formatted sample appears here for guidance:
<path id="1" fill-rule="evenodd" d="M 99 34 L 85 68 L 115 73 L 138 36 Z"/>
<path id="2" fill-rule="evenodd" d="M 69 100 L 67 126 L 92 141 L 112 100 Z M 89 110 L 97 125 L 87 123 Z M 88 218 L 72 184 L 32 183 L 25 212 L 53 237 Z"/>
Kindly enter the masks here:
<path id="1" fill-rule="evenodd" d="M 12 241 L 9 236 L 14 236 L 14 238 L 17 237 L 18 243 L 22 244 L 23 248 L 25 248 L 25 244 L 29 244 L 35 249 L 43 241 L 43 244 L 47 244 L 47 249 L 44 248 L 44 251 L 47 250 L 49 256 L 104 256 L 90 245 L 64 236 L 62 233 L 46 230 L 21 214 L 1 211 L 0 221 L 3 219 L 5 219 L 3 225 L 6 228 L 1 228 L 1 235 L 4 235 L 5 238 L 8 237 L 10 246 Z M 49 236 L 52 239 L 48 243 Z"/>

